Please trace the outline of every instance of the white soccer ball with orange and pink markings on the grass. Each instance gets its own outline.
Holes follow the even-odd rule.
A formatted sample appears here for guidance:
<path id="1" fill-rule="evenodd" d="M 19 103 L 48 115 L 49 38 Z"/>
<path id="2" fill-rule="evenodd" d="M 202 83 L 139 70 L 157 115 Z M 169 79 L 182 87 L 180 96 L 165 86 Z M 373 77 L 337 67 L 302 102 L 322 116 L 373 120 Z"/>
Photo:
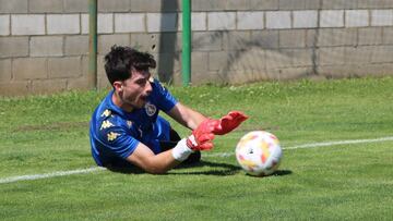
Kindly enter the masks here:
<path id="1" fill-rule="evenodd" d="M 283 151 L 276 136 L 264 131 L 249 132 L 236 146 L 236 159 L 250 175 L 263 176 L 274 173 Z"/>

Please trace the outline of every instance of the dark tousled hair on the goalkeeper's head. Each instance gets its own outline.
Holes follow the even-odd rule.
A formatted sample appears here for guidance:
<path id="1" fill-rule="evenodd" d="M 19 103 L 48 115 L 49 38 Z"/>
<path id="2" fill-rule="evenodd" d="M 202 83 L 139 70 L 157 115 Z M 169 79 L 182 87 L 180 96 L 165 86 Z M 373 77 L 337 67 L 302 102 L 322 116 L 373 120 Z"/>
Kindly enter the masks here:
<path id="1" fill-rule="evenodd" d="M 112 46 L 105 56 L 105 72 L 112 85 L 116 81 L 131 77 L 131 70 L 148 71 L 156 67 L 156 61 L 147 52 L 140 52 L 130 47 Z"/>

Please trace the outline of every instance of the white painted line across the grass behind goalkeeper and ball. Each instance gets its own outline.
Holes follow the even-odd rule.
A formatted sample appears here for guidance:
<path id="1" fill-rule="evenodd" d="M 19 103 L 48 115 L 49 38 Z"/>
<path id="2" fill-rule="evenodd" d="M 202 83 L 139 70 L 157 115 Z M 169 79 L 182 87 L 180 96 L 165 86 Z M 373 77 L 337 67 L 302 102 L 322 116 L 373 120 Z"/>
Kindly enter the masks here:
<path id="1" fill-rule="evenodd" d="M 349 139 L 349 140 L 338 140 L 338 142 L 311 143 L 311 144 L 303 144 L 303 145 L 297 145 L 297 146 L 291 146 L 291 147 L 283 147 L 283 149 L 302 149 L 302 148 L 329 147 L 329 146 L 336 146 L 336 145 L 365 144 L 365 143 L 378 143 L 378 142 L 389 142 L 389 140 L 393 140 L 393 136 L 380 137 L 380 138 L 374 138 L 374 139 Z M 207 158 L 209 157 L 230 157 L 233 155 L 235 155 L 235 152 L 218 152 L 218 154 L 203 155 L 203 157 L 207 157 Z M 56 171 L 52 173 L 44 173 L 44 174 L 10 176 L 10 177 L 5 177 L 5 179 L 0 179 L 0 184 L 14 183 L 14 182 L 19 182 L 19 181 L 33 181 L 33 180 L 40 180 L 40 179 L 50 179 L 50 177 L 56 177 L 56 176 L 90 173 L 90 172 L 103 171 L 103 170 L 106 170 L 106 169 L 100 168 L 100 167 L 94 167 L 94 168 L 70 170 L 70 171 Z"/>

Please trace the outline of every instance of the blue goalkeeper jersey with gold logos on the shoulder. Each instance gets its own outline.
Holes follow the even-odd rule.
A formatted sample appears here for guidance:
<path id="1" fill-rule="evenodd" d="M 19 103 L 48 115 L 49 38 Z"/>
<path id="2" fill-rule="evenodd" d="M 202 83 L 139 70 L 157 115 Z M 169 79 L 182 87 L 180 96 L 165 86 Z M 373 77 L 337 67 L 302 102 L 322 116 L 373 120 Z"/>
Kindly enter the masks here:
<path id="1" fill-rule="evenodd" d="M 112 90 L 94 111 L 90 139 L 92 155 L 98 165 L 124 160 L 139 143 L 159 154 L 159 140 L 169 140 L 170 125 L 158 112 L 168 112 L 177 100 L 157 79 L 151 84 L 152 93 L 144 108 L 126 112 L 112 102 Z"/>

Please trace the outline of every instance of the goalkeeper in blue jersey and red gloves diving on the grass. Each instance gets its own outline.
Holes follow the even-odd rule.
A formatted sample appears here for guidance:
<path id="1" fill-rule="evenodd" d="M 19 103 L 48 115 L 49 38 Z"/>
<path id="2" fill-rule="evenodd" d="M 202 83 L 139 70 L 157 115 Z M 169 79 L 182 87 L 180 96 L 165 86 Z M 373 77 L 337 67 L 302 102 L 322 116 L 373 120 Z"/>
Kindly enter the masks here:
<path id="1" fill-rule="evenodd" d="M 238 111 L 219 120 L 209 119 L 174 98 L 150 70 L 150 53 L 114 46 L 105 57 L 112 90 L 94 111 L 90 124 L 92 155 L 100 167 L 136 165 L 148 173 L 165 173 L 179 163 L 198 162 L 200 150 L 213 148 L 214 135 L 224 135 L 247 119 Z M 180 139 L 162 110 L 192 130 Z"/>

